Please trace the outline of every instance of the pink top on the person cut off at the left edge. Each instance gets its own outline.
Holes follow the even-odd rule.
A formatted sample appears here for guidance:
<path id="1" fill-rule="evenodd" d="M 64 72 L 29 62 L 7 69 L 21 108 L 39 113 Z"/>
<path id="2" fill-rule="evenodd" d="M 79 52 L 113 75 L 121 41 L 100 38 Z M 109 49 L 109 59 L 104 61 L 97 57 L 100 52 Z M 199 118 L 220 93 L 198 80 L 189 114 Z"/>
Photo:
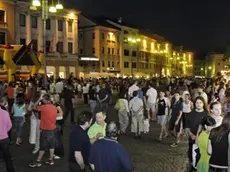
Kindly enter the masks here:
<path id="1" fill-rule="evenodd" d="M 9 113 L 0 108 L 0 140 L 8 138 L 8 131 L 11 127 L 12 123 Z"/>

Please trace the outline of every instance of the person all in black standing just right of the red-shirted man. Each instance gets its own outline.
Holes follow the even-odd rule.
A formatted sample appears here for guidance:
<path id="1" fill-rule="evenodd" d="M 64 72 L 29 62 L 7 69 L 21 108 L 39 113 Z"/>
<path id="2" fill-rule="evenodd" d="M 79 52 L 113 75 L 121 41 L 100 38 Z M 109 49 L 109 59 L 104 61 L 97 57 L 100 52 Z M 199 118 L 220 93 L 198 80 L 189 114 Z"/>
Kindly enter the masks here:
<path id="1" fill-rule="evenodd" d="M 74 91 L 73 91 L 73 87 L 72 85 L 70 85 L 70 83 L 68 83 L 68 85 L 64 88 L 63 92 L 62 92 L 62 97 L 64 99 L 64 119 L 63 121 L 65 122 L 65 120 L 68 118 L 69 113 L 71 115 L 70 117 L 70 122 L 71 124 L 74 124 L 74 116 L 75 116 L 75 95 L 74 95 Z"/>

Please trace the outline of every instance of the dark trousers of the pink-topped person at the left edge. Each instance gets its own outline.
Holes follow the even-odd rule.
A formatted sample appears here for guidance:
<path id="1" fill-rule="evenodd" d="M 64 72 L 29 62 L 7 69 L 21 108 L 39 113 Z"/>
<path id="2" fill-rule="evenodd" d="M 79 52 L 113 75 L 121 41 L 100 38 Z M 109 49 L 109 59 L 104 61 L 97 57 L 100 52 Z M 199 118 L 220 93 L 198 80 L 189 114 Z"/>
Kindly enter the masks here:
<path id="1" fill-rule="evenodd" d="M 13 161 L 10 154 L 9 139 L 0 140 L 0 151 L 3 155 L 3 160 L 6 163 L 7 172 L 14 172 Z"/>

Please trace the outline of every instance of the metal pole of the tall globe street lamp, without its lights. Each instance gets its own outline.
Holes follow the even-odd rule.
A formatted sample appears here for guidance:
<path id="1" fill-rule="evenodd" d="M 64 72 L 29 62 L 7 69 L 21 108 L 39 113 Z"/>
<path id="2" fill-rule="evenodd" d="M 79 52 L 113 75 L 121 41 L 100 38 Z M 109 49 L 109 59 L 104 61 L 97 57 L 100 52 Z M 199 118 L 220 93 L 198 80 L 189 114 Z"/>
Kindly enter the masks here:
<path id="1" fill-rule="evenodd" d="M 46 20 L 48 18 L 48 0 L 42 0 L 42 20 L 43 20 L 43 47 L 44 47 L 44 88 L 47 89 L 47 69 L 46 69 Z"/>

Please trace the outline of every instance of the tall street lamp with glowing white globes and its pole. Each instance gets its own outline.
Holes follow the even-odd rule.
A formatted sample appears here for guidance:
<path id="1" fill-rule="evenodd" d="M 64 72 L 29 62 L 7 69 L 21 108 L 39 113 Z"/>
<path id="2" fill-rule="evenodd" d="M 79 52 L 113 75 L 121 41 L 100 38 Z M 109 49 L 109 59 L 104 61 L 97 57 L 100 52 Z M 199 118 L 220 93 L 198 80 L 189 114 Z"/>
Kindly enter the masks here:
<path id="1" fill-rule="evenodd" d="M 32 7 L 42 7 L 42 20 L 43 20 L 43 53 L 44 53 L 44 88 L 47 89 L 47 52 L 46 52 L 46 20 L 48 19 L 48 0 L 33 0 Z M 32 8 L 31 8 L 32 9 Z M 36 8 L 34 8 L 36 9 Z M 52 0 L 52 6 L 49 8 L 49 12 L 55 13 L 57 9 L 63 9 L 63 5 L 58 0 L 56 7 Z"/>

